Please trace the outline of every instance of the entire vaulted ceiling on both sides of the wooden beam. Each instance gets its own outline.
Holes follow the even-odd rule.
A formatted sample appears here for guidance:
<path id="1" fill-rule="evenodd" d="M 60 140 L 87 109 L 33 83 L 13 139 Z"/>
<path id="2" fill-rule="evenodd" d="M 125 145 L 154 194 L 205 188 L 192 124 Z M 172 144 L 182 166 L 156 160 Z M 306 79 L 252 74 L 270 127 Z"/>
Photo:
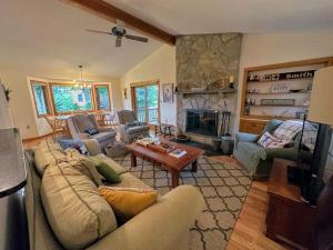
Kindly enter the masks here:
<path id="1" fill-rule="evenodd" d="M 332 0 L 105 0 L 172 34 L 333 30 Z M 59 0 L 0 1 L 1 67 L 120 77 L 161 43 L 89 33 L 114 23 Z M 135 32 L 132 32 L 135 33 Z M 47 76 L 46 76 L 47 77 Z"/>

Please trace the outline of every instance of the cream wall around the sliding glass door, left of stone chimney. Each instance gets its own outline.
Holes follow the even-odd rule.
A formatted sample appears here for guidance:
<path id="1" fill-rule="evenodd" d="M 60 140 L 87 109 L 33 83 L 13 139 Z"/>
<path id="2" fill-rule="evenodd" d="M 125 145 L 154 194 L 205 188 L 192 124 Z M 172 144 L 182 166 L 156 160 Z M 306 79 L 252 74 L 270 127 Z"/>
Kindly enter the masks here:
<path id="1" fill-rule="evenodd" d="M 137 64 L 133 69 L 128 71 L 121 78 L 121 88 L 127 88 L 128 100 L 123 99 L 123 107 L 132 109 L 130 83 L 160 80 L 161 88 L 163 83 L 175 83 L 175 47 L 162 46 L 155 52 L 145 58 L 142 62 Z M 162 89 L 160 94 L 161 103 L 161 121 L 175 124 L 175 103 L 162 102 Z"/>

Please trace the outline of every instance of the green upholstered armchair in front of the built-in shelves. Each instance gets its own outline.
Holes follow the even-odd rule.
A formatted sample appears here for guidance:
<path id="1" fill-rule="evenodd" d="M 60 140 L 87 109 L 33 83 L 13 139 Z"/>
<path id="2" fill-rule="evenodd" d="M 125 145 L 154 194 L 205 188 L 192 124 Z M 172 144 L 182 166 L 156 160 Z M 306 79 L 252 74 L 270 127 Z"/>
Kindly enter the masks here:
<path id="1" fill-rule="evenodd" d="M 273 133 L 282 122 L 281 120 L 269 121 L 263 133 Z M 239 132 L 235 134 L 233 150 L 233 156 L 252 174 L 254 180 L 264 180 L 270 177 L 274 158 L 294 161 L 297 159 L 299 143 L 296 141 L 300 140 L 300 133 L 296 136 L 292 148 L 263 148 L 256 143 L 259 138 L 260 134 Z"/>

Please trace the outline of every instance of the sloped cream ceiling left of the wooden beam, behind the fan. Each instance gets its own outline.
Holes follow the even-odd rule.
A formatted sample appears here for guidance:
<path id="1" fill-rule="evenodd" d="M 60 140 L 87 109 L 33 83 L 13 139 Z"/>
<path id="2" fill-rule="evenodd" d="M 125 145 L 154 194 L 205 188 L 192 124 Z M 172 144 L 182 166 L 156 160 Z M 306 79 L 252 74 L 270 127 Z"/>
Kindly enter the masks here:
<path id="1" fill-rule="evenodd" d="M 83 64 L 85 76 L 120 77 L 161 46 L 123 39 L 115 48 L 113 36 L 85 31 L 108 31 L 114 23 L 59 0 L 1 0 L 0 17 L 0 73 L 14 67 L 67 78 Z"/>

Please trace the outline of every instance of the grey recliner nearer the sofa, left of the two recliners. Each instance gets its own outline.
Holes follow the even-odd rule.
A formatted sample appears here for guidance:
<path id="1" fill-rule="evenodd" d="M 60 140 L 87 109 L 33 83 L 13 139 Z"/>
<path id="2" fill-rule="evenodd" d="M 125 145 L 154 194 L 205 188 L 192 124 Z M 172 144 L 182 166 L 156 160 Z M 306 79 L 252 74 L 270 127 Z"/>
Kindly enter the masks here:
<path id="1" fill-rule="evenodd" d="M 94 139 L 101 148 L 115 141 L 117 132 L 111 128 L 101 128 L 98 126 L 93 114 L 75 114 L 69 118 L 69 129 L 73 139 L 90 140 Z M 90 136 L 87 130 L 94 128 L 99 132 Z"/>

